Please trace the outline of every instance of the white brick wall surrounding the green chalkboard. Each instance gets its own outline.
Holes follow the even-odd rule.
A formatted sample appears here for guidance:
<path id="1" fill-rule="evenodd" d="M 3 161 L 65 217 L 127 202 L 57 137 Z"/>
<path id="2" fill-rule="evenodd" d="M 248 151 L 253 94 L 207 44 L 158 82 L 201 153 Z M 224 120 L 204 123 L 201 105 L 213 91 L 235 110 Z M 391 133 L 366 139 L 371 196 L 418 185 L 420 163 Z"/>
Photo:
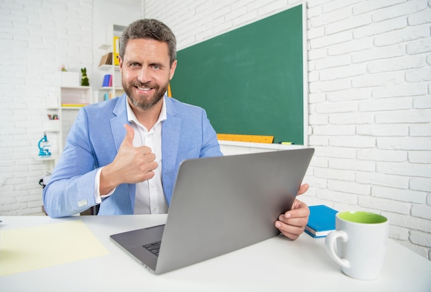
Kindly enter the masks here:
<path id="1" fill-rule="evenodd" d="M 178 50 L 301 1 L 145 1 Z M 390 237 L 431 258 L 431 9 L 426 0 L 310 0 L 304 200 L 388 216 Z M 174 6 L 174 7 L 173 7 Z M 166 12 L 166 7 L 170 7 Z M 268 151 L 222 145 L 225 154 Z"/>

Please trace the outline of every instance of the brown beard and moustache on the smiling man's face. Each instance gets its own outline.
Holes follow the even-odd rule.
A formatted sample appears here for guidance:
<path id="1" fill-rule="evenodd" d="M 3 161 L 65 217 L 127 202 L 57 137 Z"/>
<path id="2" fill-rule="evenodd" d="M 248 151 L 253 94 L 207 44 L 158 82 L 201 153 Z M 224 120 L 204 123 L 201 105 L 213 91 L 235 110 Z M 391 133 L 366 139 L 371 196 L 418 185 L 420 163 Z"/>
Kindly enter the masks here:
<path id="1" fill-rule="evenodd" d="M 129 96 L 130 102 L 136 106 L 139 107 L 142 110 L 149 110 L 151 107 L 156 105 L 160 99 L 165 95 L 165 92 L 167 92 L 168 83 L 163 85 L 162 87 L 155 85 L 150 86 L 150 83 L 140 83 L 139 81 L 132 82 L 129 85 L 127 85 L 126 81 L 124 79 L 121 79 L 121 85 L 123 85 L 124 92 Z M 135 87 L 152 87 L 154 88 L 155 92 L 153 96 L 151 96 L 149 99 L 140 97 L 138 94 L 134 94 L 134 88 Z"/>

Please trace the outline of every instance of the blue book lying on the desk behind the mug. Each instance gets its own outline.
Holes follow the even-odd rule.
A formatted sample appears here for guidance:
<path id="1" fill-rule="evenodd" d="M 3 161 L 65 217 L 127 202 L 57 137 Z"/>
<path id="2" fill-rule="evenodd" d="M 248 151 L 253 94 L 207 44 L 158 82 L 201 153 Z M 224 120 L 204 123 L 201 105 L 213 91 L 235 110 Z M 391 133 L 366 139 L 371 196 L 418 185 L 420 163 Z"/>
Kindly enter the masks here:
<path id="1" fill-rule="evenodd" d="M 310 217 L 305 227 L 305 232 L 313 238 L 325 237 L 330 231 L 335 230 L 335 214 L 338 213 L 325 205 L 310 206 Z"/>

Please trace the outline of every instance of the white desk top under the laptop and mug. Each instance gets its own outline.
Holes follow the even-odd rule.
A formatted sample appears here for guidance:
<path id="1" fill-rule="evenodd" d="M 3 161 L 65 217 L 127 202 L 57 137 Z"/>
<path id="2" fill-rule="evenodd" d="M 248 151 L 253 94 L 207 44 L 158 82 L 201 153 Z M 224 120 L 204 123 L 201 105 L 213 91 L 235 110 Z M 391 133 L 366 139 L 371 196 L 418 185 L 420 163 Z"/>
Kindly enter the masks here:
<path id="1" fill-rule="evenodd" d="M 295 241 L 277 236 L 190 267 L 154 275 L 112 242 L 109 235 L 162 224 L 164 215 L 0 219 L 3 220 L 0 231 L 83 220 L 110 252 L 97 258 L 0 277 L 3 292 L 431 291 L 431 262 L 392 240 L 388 243 L 383 271 L 373 281 L 359 281 L 342 274 L 326 254 L 324 238 L 314 239 L 306 233 Z"/>

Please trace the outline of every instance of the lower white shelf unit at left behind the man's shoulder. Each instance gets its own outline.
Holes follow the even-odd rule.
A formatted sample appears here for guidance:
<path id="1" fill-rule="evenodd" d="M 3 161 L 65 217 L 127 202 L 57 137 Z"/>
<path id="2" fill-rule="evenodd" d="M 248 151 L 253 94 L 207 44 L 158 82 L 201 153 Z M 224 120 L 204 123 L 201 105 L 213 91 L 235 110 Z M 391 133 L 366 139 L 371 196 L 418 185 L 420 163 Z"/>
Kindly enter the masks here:
<path id="1" fill-rule="evenodd" d="M 74 123 L 78 110 L 84 105 L 93 103 L 92 87 L 90 86 L 61 86 L 56 96 L 48 96 L 46 102 L 47 119 L 43 122 L 43 132 L 48 138 L 47 145 L 50 156 L 39 156 L 36 160 L 43 161 L 49 174 L 54 170 L 56 160 L 60 158 L 65 145 L 65 139 L 70 127 Z M 49 116 L 57 119 L 50 119 Z M 41 137 L 42 138 L 42 137 Z"/>

